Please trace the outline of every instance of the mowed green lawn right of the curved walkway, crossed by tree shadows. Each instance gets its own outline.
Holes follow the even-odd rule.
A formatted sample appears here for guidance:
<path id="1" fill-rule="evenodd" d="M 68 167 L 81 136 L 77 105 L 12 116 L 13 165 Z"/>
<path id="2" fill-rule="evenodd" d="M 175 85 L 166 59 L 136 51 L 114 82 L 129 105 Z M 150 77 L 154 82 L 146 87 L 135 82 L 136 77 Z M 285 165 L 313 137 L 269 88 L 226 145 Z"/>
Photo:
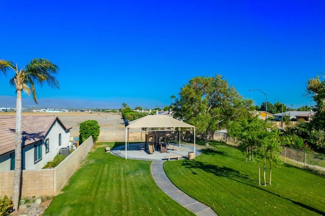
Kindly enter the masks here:
<path id="1" fill-rule="evenodd" d="M 255 162 L 245 162 L 236 148 L 210 144 L 195 160 L 164 167 L 178 188 L 219 215 L 325 215 L 324 176 L 282 165 L 273 169 L 272 185 L 258 186 Z"/>

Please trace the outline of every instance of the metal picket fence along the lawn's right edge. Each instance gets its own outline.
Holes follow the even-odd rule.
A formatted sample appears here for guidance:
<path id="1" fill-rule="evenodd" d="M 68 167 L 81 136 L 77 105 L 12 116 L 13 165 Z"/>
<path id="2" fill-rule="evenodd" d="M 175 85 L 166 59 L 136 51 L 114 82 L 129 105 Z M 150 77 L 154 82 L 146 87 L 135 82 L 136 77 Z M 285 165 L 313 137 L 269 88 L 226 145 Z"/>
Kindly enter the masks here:
<path id="1" fill-rule="evenodd" d="M 325 175 L 325 155 L 283 147 L 282 162 Z"/>

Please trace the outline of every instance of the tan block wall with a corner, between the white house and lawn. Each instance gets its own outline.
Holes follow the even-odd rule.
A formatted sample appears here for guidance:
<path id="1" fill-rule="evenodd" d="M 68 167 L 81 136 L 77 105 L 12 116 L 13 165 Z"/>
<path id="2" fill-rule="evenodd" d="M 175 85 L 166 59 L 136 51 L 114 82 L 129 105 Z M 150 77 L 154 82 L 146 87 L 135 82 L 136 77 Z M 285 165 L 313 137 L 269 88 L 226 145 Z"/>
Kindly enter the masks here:
<path id="1" fill-rule="evenodd" d="M 92 147 L 92 137 L 89 137 L 57 167 L 53 169 L 23 170 L 22 197 L 57 195 Z M 0 196 L 12 196 L 13 182 L 14 171 L 0 172 Z"/>

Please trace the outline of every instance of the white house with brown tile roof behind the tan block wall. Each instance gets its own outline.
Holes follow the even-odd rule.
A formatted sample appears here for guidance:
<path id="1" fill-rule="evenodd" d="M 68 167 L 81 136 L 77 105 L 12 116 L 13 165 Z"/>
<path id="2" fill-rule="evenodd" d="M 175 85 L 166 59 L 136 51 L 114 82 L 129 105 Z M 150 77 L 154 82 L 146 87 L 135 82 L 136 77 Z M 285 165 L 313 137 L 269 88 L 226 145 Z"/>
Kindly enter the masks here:
<path id="1" fill-rule="evenodd" d="M 0 116 L 0 171 L 15 168 L 16 116 Z M 42 169 L 67 148 L 70 129 L 56 116 L 22 116 L 22 169 Z"/>

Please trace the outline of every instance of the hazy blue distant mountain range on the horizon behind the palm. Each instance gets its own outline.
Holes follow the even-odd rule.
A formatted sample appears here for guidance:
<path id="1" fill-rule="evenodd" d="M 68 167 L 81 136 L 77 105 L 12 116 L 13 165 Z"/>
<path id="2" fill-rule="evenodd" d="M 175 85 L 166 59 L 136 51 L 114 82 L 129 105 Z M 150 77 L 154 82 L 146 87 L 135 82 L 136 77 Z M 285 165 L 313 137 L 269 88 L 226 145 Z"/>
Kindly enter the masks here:
<path id="1" fill-rule="evenodd" d="M 95 101 L 95 100 L 67 100 L 56 98 L 40 98 L 38 104 L 32 98 L 22 98 L 23 107 L 56 108 L 56 109 L 120 109 L 119 101 Z M 0 107 L 16 107 L 16 97 L 0 96 Z"/>

